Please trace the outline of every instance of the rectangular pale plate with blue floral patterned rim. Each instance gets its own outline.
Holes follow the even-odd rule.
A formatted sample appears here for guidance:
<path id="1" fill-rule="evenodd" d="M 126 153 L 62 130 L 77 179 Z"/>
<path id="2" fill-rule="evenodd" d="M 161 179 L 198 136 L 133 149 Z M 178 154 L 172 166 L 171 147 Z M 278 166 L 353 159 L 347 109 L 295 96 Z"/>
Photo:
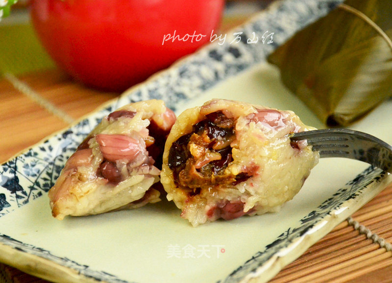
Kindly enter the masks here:
<path id="1" fill-rule="evenodd" d="M 51 216 L 47 192 L 67 158 L 100 119 L 132 101 L 163 99 L 180 113 L 212 98 L 316 116 L 280 82 L 266 55 L 339 0 L 277 2 L 244 26 L 106 103 L 69 129 L 0 167 L 0 261 L 54 282 L 267 282 L 378 194 L 390 176 L 359 161 L 321 159 L 278 213 L 193 228 L 172 203 L 86 217 Z M 258 41 L 256 42 L 256 39 Z M 392 142 L 386 102 L 353 125 Z M 374 123 L 377 121 L 377 123 Z"/>

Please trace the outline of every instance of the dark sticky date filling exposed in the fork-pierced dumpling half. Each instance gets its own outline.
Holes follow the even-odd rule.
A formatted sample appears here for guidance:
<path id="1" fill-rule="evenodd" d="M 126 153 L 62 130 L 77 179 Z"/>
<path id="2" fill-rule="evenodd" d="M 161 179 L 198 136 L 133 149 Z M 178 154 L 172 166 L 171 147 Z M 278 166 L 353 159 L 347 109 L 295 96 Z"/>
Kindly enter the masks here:
<path id="1" fill-rule="evenodd" d="M 247 180 L 246 173 L 225 173 L 233 161 L 230 143 L 235 139 L 235 121 L 221 111 L 206 115 L 191 133 L 178 138 L 169 151 L 169 168 L 176 185 L 189 196 L 220 184 L 235 185 Z"/>

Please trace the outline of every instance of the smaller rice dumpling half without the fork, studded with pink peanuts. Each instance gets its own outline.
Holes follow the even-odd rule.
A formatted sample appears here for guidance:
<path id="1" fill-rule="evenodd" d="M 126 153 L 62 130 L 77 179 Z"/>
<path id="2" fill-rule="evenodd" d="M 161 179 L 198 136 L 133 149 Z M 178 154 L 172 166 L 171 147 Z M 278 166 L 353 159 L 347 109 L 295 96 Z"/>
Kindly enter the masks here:
<path id="1" fill-rule="evenodd" d="M 104 117 L 49 190 L 53 217 L 160 201 L 162 154 L 174 121 L 173 111 L 158 100 L 130 103 Z"/>

